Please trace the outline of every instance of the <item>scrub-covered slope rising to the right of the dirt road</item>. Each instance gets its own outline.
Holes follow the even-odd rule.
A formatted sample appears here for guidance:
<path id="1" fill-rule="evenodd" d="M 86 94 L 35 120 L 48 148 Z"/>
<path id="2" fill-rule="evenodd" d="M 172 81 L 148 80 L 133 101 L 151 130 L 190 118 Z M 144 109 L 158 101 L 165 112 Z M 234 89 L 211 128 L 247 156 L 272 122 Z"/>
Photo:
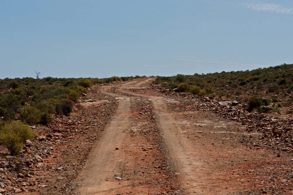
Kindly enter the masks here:
<path id="1" fill-rule="evenodd" d="M 157 76 L 154 84 L 175 92 L 236 99 L 248 111 L 280 112 L 278 102 L 292 105 L 293 64 L 246 71 Z M 278 98 L 277 98 L 278 97 Z M 272 103 L 271 107 L 268 107 Z"/>

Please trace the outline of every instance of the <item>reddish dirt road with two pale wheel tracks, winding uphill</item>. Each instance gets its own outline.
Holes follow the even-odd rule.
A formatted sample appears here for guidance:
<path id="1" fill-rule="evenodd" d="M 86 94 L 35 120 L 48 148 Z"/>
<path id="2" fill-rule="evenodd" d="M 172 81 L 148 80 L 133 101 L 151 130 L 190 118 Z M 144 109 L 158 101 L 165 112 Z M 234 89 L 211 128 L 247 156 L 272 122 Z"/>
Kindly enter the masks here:
<path id="1" fill-rule="evenodd" d="M 78 193 L 260 194 L 266 186 L 252 176 L 267 155 L 240 143 L 245 129 L 212 113 L 177 111 L 178 101 L 140 90 L 151 81 L 101 88 L 119 107 L 79 176 Z"/>

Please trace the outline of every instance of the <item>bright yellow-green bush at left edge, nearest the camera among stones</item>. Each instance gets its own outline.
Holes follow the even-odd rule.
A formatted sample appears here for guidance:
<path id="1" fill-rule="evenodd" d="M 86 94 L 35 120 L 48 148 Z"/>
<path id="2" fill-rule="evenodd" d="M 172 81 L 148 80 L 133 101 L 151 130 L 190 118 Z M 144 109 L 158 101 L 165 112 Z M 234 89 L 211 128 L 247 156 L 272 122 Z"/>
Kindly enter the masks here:
<path id="1" fill-rule="evenodd" d="M 11 155 L 18 154 L 26 140 L 33 140 L 35 134 L 30 127 L 19 121 L 7 123 L 0 130 L 0 142 L 10 151 Z"/>

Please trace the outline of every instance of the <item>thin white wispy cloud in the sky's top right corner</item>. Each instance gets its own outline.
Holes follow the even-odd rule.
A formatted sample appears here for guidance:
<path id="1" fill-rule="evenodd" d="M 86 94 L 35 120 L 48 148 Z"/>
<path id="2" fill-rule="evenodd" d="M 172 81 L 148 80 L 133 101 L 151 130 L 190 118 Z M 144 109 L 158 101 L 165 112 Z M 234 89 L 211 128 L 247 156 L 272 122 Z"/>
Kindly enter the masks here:
<path id="1" fill-rule="evenodd" d="M 292 8 L 286 8 L 277 4 L 260 3 L 260 4 L 245 4 L 247 8 L 257 11 L 270 11 L 275 13 L 293 13 Z"/>

